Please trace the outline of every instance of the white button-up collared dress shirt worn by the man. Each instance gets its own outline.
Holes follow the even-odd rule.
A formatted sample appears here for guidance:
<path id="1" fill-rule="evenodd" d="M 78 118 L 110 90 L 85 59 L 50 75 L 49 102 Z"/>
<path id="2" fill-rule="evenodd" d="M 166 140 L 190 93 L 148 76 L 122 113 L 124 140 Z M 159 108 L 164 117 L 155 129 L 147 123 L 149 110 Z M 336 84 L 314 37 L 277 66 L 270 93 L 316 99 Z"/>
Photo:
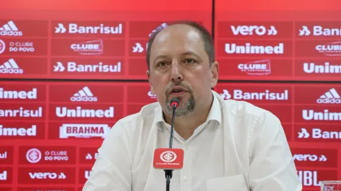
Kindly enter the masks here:
<path id="1" fill-rule="evenodd" d="M 171 191 L 301 191 L 280 120 L 245 101 L 214 101 L 207 121 L 173 148 L 184 149 L 184 166 L 173 172 Z M 175 117 L 176 120 L 176 117 Z M 84 191 L 166 190 L 164 170 L 152 165 L 154 149 L 169 147 L 170 125 L 150 103 L 111 128 Z"/>

